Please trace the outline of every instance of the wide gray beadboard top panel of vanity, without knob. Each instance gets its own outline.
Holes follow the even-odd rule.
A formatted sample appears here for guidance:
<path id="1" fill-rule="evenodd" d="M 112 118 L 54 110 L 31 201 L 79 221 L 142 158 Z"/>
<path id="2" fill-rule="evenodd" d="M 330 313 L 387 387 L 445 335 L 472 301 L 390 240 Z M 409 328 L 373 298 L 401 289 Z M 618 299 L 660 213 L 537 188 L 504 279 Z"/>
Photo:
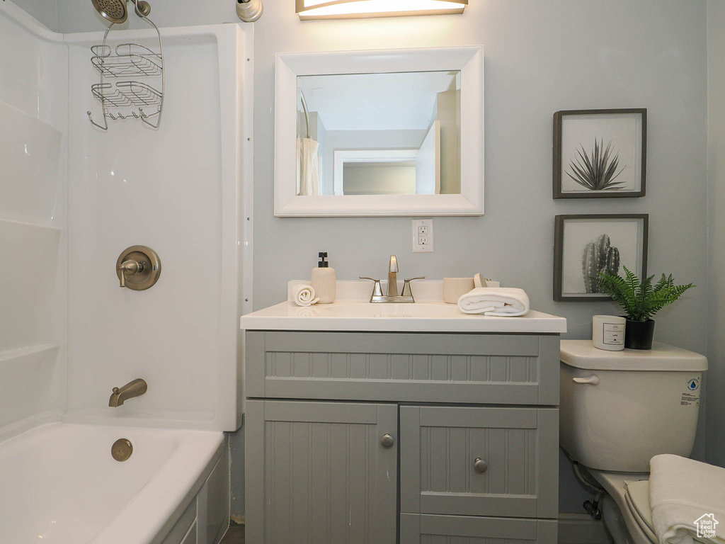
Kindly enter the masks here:
<path id="1" fill-rule="evenodd" d="M 247 331 L 247 397 L 557 405 L 558 334 Z"/>

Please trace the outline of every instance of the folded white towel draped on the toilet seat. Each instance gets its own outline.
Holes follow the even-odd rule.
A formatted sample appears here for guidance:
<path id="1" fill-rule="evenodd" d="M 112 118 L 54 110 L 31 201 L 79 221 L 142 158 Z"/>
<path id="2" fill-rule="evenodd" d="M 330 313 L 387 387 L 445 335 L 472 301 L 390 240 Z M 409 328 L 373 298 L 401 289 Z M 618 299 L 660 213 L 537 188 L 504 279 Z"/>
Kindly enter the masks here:
<path id="1" fill-rule="evenodd" d="M 660 544 L 725 543 L 725 469 L 680 456 L 650 460 L 650 506 Z M 695 522 L 700 521 L 700 524 Z M 717 522 L 715 524 L 714 522 Z M 697 536 L 713 527 L 715 537 Z"/>

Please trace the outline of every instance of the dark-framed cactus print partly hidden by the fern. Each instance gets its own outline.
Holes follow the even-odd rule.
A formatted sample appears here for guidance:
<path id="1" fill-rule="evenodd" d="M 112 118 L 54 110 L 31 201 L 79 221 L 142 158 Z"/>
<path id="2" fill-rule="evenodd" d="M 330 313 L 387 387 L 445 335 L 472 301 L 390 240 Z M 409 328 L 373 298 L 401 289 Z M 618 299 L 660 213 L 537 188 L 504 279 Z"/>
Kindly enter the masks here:
<path id="1" fill-rule="evenodd" d="M 650 216 L 557 215 L 554 223 L 554 300 L 611 300 L 592 281 L 600 271 L 618 275 L 624 266 L 647 276 L 647 236 Z"/>

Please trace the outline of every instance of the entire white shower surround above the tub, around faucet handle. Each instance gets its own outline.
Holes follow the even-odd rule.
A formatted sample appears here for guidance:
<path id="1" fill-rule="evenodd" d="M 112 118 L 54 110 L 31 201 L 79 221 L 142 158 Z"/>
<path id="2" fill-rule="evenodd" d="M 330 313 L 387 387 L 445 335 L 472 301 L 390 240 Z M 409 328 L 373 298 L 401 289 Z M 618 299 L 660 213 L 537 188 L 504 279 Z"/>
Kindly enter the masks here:
<path id="1" fill-rule="evenodd" d="M 112 31 L 109 44 L 154 35 Z M 242 184 L 252 173 L 251 30 L 162 36 L 161 127 L 111 121 L 104 132 L 86 115 L 99 120 L 90 47 L 103 32 L 52 33 L 0 4 L 0 120 L 12 127 L 0 131 L 0 250 L 17 263 L 0 271 L 0 437 L 64 412 L 66 421 L 241 424 L 235 324 L 252 305 L 252 221 L 240 221 L 252 217 L 252 186 Z M 120 289 L 115 276 L 119 253 L 135 244 L 162 260 L 146 292 Z M 108 408 L 111 388 L 136 377 L 149 392 Z"/>

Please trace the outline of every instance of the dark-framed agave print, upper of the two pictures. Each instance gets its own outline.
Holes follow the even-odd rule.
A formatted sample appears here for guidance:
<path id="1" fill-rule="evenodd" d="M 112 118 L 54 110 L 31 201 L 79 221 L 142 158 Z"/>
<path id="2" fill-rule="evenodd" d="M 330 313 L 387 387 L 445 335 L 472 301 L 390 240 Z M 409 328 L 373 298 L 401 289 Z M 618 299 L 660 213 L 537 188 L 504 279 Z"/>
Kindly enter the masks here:
<path id="1" fill-rule="evenodd" d="M 554 114 L 554 198 L 644 197 L 647 110 Z"/>

